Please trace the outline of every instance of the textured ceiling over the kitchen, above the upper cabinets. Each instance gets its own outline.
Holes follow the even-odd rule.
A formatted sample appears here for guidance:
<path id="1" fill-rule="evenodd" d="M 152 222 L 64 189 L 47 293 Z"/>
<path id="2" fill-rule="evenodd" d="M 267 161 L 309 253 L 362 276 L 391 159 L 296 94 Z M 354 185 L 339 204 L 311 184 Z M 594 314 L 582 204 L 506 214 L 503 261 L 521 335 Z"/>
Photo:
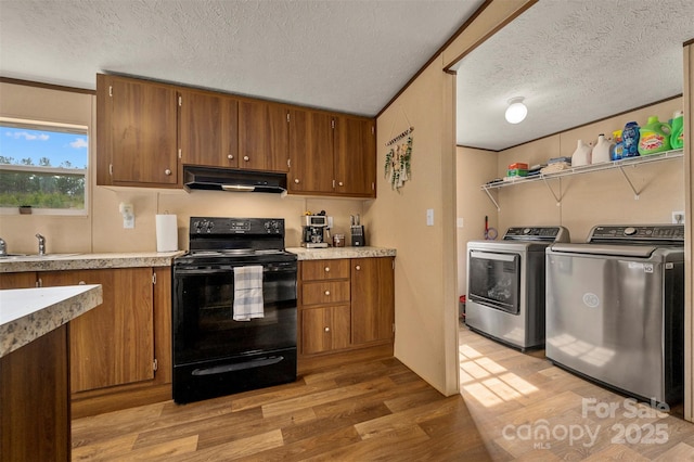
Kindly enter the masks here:
<path id="1" fill-rule="evenodd" d="M 0 0 L 0 75 L 129 74 L 373 116 L 483 0 Z"/>

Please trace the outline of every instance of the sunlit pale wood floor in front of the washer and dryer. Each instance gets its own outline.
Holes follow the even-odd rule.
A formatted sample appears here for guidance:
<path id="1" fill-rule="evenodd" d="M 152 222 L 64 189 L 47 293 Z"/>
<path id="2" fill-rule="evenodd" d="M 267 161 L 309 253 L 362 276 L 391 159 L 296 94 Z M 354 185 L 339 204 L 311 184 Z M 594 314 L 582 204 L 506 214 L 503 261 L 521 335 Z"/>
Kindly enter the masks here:
<path id="1" fill-rule="evenodd" d="M 461 394 L 494 461 L 694 461 L 694 424 L 466 328 Z M 547 429 L 548 433 L 543 432 Z M 624 444 L 620 444 L 624 442 Z"/>

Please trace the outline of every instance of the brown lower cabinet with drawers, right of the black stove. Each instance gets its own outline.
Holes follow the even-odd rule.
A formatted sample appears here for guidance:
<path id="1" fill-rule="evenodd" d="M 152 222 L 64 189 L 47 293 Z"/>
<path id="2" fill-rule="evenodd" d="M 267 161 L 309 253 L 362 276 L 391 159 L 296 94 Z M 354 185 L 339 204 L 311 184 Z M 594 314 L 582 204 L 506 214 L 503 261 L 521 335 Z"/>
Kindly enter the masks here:
<path id="1" fill-rule="evenodd" d="M 300 261 L 299 370 L 319 356 L 393 345 L 393 257 Z"/>

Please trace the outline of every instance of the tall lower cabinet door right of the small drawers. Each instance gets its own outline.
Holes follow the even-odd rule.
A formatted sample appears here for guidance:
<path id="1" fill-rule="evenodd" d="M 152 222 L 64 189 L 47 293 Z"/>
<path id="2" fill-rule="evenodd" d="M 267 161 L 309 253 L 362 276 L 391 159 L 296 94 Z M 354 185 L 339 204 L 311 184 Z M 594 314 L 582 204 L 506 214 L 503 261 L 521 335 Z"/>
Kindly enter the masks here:
<path id="1" fill-rule="evenodd" d="M 393 258 L 351 260 L 352 344 L 393 338 L 395 275 Z"/>

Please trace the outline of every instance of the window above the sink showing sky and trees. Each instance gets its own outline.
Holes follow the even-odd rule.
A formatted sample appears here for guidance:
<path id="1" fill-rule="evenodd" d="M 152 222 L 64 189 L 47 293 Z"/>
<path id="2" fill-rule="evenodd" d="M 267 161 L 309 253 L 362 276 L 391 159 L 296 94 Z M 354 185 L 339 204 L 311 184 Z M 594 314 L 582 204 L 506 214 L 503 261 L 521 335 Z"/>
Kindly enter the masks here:
<path id="1" fill-rule="evenodd" d="M 86 215 L 88 158 L 85 126 L 0 117 L 0 210 Z"/>

